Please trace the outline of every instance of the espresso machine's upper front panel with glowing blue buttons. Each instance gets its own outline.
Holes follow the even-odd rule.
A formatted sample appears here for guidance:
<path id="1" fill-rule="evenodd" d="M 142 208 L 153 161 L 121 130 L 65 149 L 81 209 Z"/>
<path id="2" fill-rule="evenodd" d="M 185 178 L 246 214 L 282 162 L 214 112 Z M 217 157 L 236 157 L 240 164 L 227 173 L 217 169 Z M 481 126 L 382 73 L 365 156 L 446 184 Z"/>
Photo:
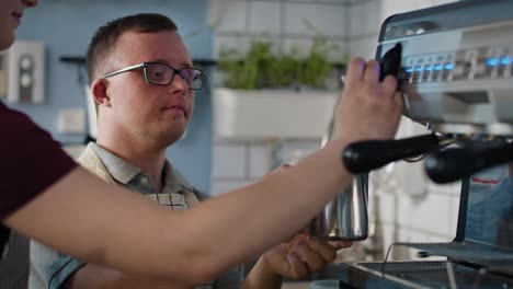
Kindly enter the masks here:
<path id="1" fill-rule="evenodd" d="M 513 4 L 513 2 L 511 2 Z M 455 135 L 513 135 L 513 21 L 438 28 L 380 42 L 401 44 L 403 114 Z"/>

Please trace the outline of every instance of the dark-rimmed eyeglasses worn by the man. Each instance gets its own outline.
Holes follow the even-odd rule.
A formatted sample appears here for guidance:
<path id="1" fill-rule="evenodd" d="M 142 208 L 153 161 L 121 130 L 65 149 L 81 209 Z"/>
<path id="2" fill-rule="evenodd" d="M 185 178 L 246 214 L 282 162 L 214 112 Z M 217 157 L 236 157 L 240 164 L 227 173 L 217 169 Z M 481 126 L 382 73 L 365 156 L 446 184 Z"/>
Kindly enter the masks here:
<path id="1" fill-rule="evenodd" d="M 206 78 L 205 71 L 201 69 L 193 67 L 175 69 L 161 62 L 142 62 L 139 65 L 125 67 L 111 73 L 106 73 L 102 78 L 105 79 L 114 77 L 116 74 L 139 68 L 142 68 L 146 82 L 153 85 L 169 85 L 171 82 L 173 82 L 174 76 L 179 74 L 185 81 L 185 83 L 187 83 L 190 90 L 201 90 Z"/>

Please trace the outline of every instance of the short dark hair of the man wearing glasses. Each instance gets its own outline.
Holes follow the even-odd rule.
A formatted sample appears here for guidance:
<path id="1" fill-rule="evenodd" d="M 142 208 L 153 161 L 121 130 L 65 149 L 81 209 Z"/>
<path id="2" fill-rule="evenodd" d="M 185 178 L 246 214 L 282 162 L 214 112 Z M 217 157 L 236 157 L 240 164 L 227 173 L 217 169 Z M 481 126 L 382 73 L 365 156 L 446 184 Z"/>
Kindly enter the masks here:
<path id="1" fill-rule="evenodd" d="M 86 63 L 88 68 L 89 84 L 95 79 L 99 65 L 105 62 L 109 53 L 121 35 L 126 32 L 153 33 L 161 31 L 178 31 L 176 24 L 162 14 L 140 13 L 128 15 L 107 22 L 94 34 L 88 47 Z M 103 71 L 104 73 L 106 71 Z"/>

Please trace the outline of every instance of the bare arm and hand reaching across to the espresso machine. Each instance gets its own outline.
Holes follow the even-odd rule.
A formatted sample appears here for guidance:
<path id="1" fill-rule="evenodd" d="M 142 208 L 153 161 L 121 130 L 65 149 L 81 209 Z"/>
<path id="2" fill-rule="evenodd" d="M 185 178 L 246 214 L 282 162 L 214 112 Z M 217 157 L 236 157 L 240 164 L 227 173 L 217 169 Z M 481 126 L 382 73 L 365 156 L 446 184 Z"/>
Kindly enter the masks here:
<path id="1" fill-rule="evenodd" d="M 376 61 L 352 60 L 332 140 L 256 184 L 172 211 L 77 167 L 4 223 L 62 253 L 127 273 L 190 284 L 215 279 L 285 241 L 340 193 L 351 180 L 340 161 L 349 142 L 394 136 L 401 111 L 397 81 L 379 83 L 378 76 Z"/>

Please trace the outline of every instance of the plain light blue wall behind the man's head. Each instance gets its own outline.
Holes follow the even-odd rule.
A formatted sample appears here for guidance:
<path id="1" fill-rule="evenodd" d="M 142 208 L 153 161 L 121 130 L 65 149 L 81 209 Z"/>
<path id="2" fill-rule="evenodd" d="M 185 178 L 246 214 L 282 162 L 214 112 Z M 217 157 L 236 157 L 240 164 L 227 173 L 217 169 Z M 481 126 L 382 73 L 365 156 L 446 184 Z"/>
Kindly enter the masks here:
<path id="1" fill-rule="evenodd" d="M 59 57 L 84 55 L 98 27 L 115 18 L 140 12 L 158 12 L 170 16 L 178 24 L 192 58 L 210 58 L 213 34 L 206 26 L 205 0 L 41 1 L 35 9 L 25 11 L 18 38 L 45 43 L 45 104 L 10 106 L 31 115 L 58 141 L 82 142 L 86 136 L 57 132 L 59 109 L 86 107 L 79 81 L 79 74 L 86 78 L 83 68 L 62 63 Z M 168 150 L 171 163 L 204 192 L 209 192 L 210 186 L 212 143 L 210 97 L 208 91 L 204 90 L 196 94 L 194 117 L 186 137 Z"/>

